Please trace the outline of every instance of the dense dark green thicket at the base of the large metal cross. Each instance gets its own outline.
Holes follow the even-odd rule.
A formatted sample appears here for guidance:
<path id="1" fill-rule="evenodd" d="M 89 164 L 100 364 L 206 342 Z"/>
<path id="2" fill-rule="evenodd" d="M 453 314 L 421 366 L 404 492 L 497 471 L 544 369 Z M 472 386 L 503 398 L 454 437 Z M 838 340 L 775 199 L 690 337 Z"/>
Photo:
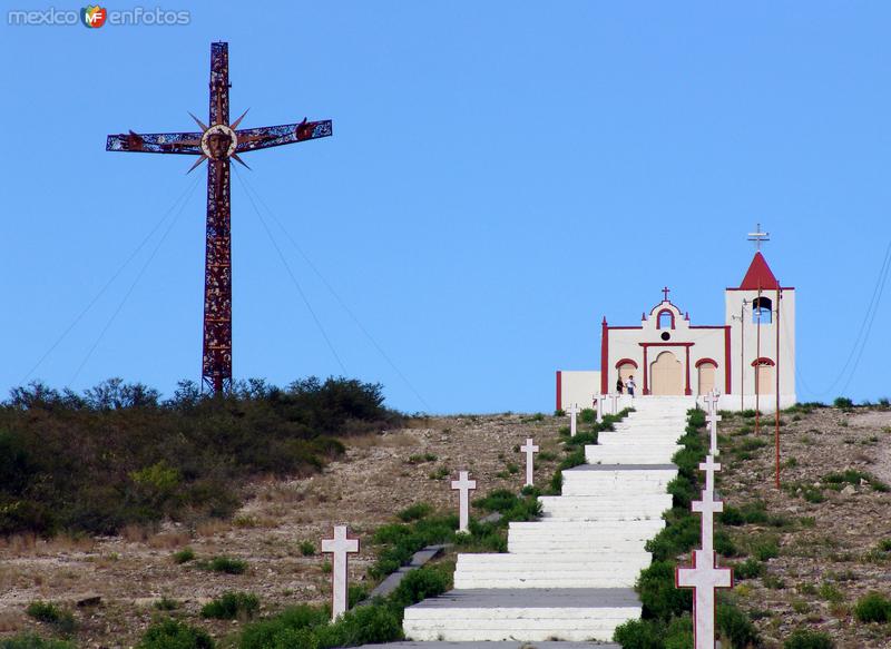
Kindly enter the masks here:
<path id="1" fill-rule="evenodd" d="M 0 534 L 228 517 L 253 476 L 319 471 L 344 452 L 331 435 L 399 419 L 380 385 L 346 378 L 251 381 L 214 397 L 184 382 L 164 402 L 118 378 L 82 395 L 31 383 L 0 404 Z"/>

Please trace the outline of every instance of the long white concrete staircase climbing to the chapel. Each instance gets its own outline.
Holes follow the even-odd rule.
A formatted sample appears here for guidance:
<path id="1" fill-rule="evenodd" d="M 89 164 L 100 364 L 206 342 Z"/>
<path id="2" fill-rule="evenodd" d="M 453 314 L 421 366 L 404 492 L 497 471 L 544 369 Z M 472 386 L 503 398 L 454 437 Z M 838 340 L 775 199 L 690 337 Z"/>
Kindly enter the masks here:
<path id="1" fill-rule="evenodd" d="M 459 554 L 454 590 L 405 609 L 405 637 L 608 641 L 638 618 L 634 582 L 672 507 L 670 459 L 694 403 L 636 399 L 636 412 L 586 446 L 588 464 L 564 471 L 562 495 L 540 499 L 539 521 L 510 523 L 507 553 Z"/>

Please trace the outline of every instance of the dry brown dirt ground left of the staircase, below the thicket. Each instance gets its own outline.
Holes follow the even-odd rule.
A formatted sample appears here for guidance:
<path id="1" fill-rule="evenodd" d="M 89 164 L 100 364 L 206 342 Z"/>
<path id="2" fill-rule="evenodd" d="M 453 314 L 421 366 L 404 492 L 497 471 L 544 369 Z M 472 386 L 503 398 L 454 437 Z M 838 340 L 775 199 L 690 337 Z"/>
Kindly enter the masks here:
<path id="1" fill-rule="evenodd" d="M 565 424 L 551 416 L 515 414 L 415 420 L 410 427 L 345 440 L 345 458 L 312 478 L 252 484 L 229 522 L 133 528 L 115 538 L 0 540 L 0 638 L 26 629 L 50 635 L 25 613 L 35 600 L 72 610 L 78 646 L 96 648 L 135 645 L 158 614 L 154 604 L 161 597 L 180 602 L 180 614 L 218 638 L 232 635 L 239 622 L 202 620 L 198 611 L 225 591 L 257 594 L 261 612 L 326 601 L 330 574 L 317 549 L 322 538 L 331 537 L 332 525 L 349 524 L 351 533 L 368 539 L 415 502 L 457 508 L 449 481 L 459 469 L 477 480 L 474 495 L 519 489 L 525 464 L 517 446 L 533 437 L 542 451 L 555 451 L 557 431 Z M 552 471 L 554 461 L 538 462 L 537 479 Z M 301 541 L 312 542 L 316 553 L 304 555 Z M 172 554 L 185 547 L 194 549 L 196 561 L 178 566 Z M 351 557 L 351 582 L 365 581 L 372 550 L 363 543 L 359 555 Z M 217 555 L 243 559 L 248 568 L 233 576 L 196 566 Z M 94 594 L 101 597 L 99 606 L 77 607 L 79 599 Z"/>

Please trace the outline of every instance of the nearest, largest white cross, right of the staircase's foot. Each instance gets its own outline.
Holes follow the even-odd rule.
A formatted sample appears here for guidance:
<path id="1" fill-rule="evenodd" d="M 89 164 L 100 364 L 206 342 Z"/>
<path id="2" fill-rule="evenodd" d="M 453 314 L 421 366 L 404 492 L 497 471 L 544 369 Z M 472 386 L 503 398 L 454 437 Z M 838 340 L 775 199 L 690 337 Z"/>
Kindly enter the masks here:
<path id="1" fill-rule="evenodd" d="M 714 552 L 693 551 L 693 566 L 678 567 L 678 588 L 693 588 L 694 649 L 715 649 L 715 589 L 733 588 L 733 570 L 718 568 Z"/>

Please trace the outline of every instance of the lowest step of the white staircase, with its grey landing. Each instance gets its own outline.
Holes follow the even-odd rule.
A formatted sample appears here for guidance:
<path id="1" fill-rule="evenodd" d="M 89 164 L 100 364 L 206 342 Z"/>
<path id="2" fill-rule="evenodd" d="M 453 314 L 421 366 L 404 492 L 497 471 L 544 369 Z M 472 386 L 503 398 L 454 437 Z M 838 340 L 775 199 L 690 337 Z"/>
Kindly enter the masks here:
<path id="1" fill-rule="evenodd" d="M 405 609 L 411 640 L 600 640 L 640 617 L 630 589 L 453 590 Z"/>

